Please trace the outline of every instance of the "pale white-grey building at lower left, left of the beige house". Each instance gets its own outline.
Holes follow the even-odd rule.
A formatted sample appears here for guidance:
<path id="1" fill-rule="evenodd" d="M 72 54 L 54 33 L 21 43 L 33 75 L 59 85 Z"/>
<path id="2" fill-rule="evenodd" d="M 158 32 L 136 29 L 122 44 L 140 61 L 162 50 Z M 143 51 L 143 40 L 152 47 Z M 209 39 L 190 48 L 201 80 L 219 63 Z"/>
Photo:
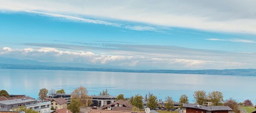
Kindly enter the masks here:
<path id="1" fill-rule="evenodd" d="M 51 101 L 37 101 L 35 104 L 25 105 L 25 107 L 38 111 L 39 113 L 51 113 Z"/>

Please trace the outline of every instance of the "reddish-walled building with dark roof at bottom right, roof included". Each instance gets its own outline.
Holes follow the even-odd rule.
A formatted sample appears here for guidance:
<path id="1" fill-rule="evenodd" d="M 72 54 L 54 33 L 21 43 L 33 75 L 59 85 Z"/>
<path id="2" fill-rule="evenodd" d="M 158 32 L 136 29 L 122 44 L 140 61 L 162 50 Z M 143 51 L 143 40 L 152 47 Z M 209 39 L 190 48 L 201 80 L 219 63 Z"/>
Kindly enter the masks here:
<path id="1" fill-rule="evenodd" d="M 183 104 L 182 113 L 233 113 L 233 110 L 228 106 Z"/>

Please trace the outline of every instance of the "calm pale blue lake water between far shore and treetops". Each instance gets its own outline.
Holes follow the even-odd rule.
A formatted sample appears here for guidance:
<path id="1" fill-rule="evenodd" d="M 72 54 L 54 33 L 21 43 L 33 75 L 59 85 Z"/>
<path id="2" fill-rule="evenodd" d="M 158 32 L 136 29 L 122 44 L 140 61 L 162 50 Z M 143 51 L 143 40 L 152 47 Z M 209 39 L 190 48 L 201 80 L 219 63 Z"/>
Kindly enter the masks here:
<path id="1" fill-rule="evenodd" d="M 205 90 L 220 91 L 224 99 L 232 97 L 256 102 L 256 76 L 0 69 L 0 79 L 0 89 L 34 98 L 38 97 L 41 88 L 64 89 L 71 93 L 82 85 L 89 95 L 98 95 L 107 88 L 110 95 L 145 96 L 152 92 L 158 99 L 171 96 L 175 101 L 186 94 L 193 102 L 193 92 Z"/>

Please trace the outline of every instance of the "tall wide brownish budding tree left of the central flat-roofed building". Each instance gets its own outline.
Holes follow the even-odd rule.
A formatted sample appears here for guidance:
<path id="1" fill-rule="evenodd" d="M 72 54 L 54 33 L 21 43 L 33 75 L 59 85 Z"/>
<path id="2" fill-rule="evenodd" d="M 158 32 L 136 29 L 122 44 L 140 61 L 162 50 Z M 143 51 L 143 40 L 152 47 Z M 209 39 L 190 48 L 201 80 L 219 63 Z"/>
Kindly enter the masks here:
<path id="1" fill-rule="evenodd" d="M 88 107 L 88 105 L 92 104 L 92 99 L 87 94 L 87 89 L 80 86 L 71 93 L 71 97 L 79 100 L 79 107 Z"/>

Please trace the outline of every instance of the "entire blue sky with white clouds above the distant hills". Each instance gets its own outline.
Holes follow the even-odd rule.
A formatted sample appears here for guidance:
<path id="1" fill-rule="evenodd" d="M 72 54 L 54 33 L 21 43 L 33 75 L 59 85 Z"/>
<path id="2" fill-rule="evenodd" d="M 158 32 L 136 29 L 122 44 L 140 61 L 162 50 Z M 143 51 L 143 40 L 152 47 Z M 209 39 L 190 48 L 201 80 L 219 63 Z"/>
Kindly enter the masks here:
<path id="1" fill-rule="evenodd" d="M 256 68 L 254 0 L 0 0 L 0 57 L 121 69 Z"/>

